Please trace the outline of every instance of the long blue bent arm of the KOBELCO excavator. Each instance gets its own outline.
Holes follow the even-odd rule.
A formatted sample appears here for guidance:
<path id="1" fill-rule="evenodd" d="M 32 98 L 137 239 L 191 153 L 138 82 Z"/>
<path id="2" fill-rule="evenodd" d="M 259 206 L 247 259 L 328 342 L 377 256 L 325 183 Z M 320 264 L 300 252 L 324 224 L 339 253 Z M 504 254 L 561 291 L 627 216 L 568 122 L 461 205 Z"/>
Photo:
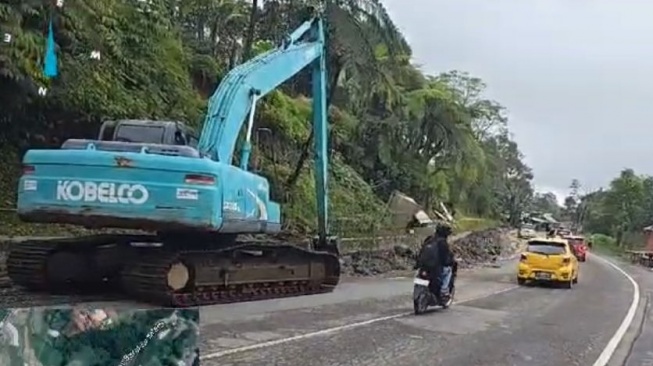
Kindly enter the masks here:
<path id="1" fill-rule="evenodd" d="M 327 240 L 327 104 L 324 23 L 320 17 L 304 22 L 280 47 L 231 70 L 209 100 L 199 151 L 213 160 L 231 164 L 236 142 L 246 124 L 240 167 L 248 169 L 256 103 L 286 80 L 311 67 L 313 130 L 315 135 L 315 186 L 319 242 Z"/>

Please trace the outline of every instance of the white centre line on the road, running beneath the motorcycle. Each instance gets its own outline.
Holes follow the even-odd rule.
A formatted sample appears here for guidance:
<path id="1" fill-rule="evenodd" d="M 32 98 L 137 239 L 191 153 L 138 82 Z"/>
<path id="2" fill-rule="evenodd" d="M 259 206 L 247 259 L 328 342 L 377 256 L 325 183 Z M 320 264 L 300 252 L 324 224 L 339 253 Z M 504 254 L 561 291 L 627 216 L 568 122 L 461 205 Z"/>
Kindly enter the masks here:
<path id="1" fill-rule="evenodd" d="M 456 301 L 454 304 L 464 304 L 464 303 L 471 302 L 471 301 L 474 301 L 474 300 L 483 299 L 483 298 L 486 298 L 486 297 L 502 294 L 504 292 L 512 291 L 512 290 L 517 289 L 519 287 L 521 287 L 521 286 L 511 286 L 511 287 L 505 288 L 503 290 L 494 291 L 494 292 L 489 293 L 489 294 L 472 297 L 470 299 L 465 299 L 465 300 L 462 300 L 462 301 Z M 201 361 L 209 360 L 209 359 L 212 359 L 212 358 L 219 358 L 219 357 L 232 355 L 234 353 L 254 351 L 254 350 L 257 350 L 257 349 L 260 349 L 260 348 L 272 347 L 272 346 L 277 346 L 277 345 L 280 345 L 280 344 L 299 341 L 299 340 L 304 340 L 304 339 L 308 339 L 308 338 L 325 336 L 325 335 L 328 335 L 328 334 L 337 333 L 337 332 L 341 332 L 341 331 L 349 330 L 349 329 L 353 329 L 353 328 L 363 327 L 363 326 L 366 326 L 366 325 L 379 323 L 379 322 L 383 322 L 383 321 L 386 321 L 386 320 L 397 319 L 397 318 L 405 317 L 405 316 L 408 316 L 408 315 L 413 315 L 413 312 L 411 311 L 411 312 L 406 312 L 406 313 L 401 313 L 401 314 L 389 315 L 389 316 L 370 319 L 370 320 L 366 320 L 366 321 L 362 321 L 362 322 L 358 322 L 358 323 L 351 323 L 351 324 L 347 324 L 347 325 L 342 325 L 342 326 L 339 326 L 339 327 L 327 328 L 327 329 L 319 330 L 317 332 L 300 334 L 300 335 L 296 335 L 296 336 L 293 336 L 293 337 L 281 338 L 281 339 L 276 339 L 276 340 L 273 340 L 273 341 L 256 343 L 256 344 L 252 344 L 252 345 L 249 345 L 249 346 L 231 348 L 231 349 L 224 350 L 224 351 L 203 354 L 203 355 L 200 355 L 200 360 Z"/>

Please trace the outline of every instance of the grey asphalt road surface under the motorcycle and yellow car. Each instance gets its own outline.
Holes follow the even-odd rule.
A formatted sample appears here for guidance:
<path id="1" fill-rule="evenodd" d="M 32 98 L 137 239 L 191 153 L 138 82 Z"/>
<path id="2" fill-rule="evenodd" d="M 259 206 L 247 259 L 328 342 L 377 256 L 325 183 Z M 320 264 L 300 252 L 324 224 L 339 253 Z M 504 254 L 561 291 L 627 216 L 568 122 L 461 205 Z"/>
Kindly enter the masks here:
<path id="1" fill-rule="evenodd" d="M 515 265 L 461 274 L 457 304 L 419 317 L 412 315 L 409 278 L 207 307 L 202 365 L 593 365 L 631 305 L 630 281 L 591 258 L 572 290 L 517 287 Z M 648 316 L 641 348 L 653 344 Z M 633 362 L 628 366 L 647 365 Z"/>

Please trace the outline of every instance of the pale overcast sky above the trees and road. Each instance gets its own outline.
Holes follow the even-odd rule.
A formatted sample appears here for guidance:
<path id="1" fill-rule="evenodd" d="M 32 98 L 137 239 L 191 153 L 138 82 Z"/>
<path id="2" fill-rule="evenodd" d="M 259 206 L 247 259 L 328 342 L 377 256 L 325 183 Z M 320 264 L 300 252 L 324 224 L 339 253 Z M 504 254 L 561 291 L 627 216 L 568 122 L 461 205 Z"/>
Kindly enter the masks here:
<path id="1" fill-rule="evenodd" d="M 653 1 L 382 0 L 427 73 L 469 71 L 510 112 L 539 190 L 653 174 Z"/>

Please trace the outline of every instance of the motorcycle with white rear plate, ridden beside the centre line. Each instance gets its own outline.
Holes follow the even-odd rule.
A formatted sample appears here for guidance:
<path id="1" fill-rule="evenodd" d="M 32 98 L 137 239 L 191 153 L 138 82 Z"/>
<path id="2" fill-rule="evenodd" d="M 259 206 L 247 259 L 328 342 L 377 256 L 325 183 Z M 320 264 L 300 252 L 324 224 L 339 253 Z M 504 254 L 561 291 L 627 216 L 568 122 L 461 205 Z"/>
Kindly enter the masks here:
<path id="1" fill-rule="evenodd" d="M 429 306 L 440 306 L 443 309 L 449 308 L 453 304 L 456 293 L 456 276 L 458 274 L 458 263 L 454 262 L 451 268 L 451 281 L 449 281 L 449 294 L 443 296 L 440 289 L 440 280 L 438 283 L 431 284 L 430 275 L 427 270 L 418 268 L 415 278 L 413 279 L 413 307 L 415 315 L 422 314 Z M 438 291 L 431 291 L 431 286 Z"/>

